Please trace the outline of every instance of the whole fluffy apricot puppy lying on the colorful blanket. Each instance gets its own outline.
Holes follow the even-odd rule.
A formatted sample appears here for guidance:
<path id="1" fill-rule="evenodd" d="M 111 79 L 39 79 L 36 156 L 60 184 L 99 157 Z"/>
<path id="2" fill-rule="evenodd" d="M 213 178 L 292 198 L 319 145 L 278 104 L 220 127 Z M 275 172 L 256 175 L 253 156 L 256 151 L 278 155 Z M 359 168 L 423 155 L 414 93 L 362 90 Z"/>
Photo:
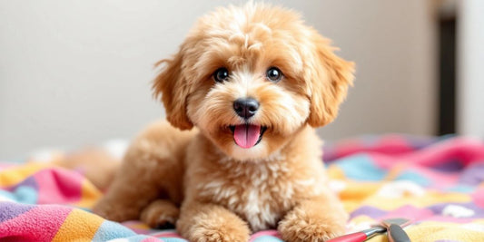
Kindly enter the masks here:
<path id="1" fill-rule="evenodd" d="M 94 208 L 116 221 L 176 224 L 190 241 L 287 241 L 341 235 L 347 214 L 327 187 L 321 140 L 353 63 L 282 7 L 219 8 L 198 20 L 153 82 L 170 122 L 133 141 Z"/>

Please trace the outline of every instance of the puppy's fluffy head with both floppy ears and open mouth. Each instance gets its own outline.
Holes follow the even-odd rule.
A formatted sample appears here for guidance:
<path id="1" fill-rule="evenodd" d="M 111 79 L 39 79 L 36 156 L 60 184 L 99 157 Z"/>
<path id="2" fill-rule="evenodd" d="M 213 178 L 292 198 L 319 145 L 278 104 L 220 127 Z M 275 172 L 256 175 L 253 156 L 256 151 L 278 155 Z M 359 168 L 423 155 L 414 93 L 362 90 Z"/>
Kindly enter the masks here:
<path id="1" fill-rule="evenodd" d="M 166 116 L 197 126 L 238 160 L 267 157 L 301 128 L 331 122 L 353 79 L 353 63 L 299 15 L 272 5 L 205 15 L 153 82 Z"/>

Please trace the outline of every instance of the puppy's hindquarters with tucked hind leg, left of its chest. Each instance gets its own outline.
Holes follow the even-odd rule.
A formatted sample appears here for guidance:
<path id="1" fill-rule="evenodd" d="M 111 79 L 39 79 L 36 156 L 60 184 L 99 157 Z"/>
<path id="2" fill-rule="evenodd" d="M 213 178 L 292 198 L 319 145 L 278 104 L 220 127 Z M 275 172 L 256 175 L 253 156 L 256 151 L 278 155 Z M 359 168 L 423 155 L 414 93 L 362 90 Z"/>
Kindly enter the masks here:
<path id="1" fill-rule="evenodd" d="M 151 226 L 164 223 L 163 216 L 176 219 L 174 204 L 182 201 L 183 151 L 196 131 L 178 131 L 166 121 L 155 122 L 129 147 L 114 182 L 94 212 L 114 221 L 140 218 Z M 166 212 L 161 212 L 166 208 Z M 159 216 L 156 218 L 156 215 Z M 154 221 L 154 222 L 153 222 Z M 173 221 L 174 222 L 174 221 Z"/>

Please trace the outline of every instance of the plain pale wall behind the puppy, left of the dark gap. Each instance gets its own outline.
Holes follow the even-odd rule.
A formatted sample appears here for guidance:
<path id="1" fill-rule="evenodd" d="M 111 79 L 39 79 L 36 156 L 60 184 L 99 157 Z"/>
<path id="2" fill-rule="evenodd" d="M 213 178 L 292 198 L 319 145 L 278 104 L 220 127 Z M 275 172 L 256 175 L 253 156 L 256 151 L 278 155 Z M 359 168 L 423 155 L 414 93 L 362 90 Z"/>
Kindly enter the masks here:
<path id="1" fill-rule="evenodd" d="M 46 146 L 130 138 L 163 116 L 153 63 L 174 53 L 195 18 L 244 1 L 0 0 L 0 160 Z M 434 26 L 427 1 L 268 1 L 357 63 L 356 86 L 326 139 L 430 134 Z"/>

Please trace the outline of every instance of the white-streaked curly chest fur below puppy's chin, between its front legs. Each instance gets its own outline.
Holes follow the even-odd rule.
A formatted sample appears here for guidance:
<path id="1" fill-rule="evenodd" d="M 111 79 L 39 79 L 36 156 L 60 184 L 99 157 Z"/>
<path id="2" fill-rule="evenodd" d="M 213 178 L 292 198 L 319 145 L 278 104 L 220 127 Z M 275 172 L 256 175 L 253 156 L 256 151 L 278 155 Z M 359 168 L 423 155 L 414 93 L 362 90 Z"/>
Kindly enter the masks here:
<path id="1" fill-rule="evenodd" d="M 306 185 L 313 184 L 291 179 L 284 167 L 258 167 L 214 172 L 197 188 L 203 200 L 230 209 L 258 231 L 277 227 Z"/>

